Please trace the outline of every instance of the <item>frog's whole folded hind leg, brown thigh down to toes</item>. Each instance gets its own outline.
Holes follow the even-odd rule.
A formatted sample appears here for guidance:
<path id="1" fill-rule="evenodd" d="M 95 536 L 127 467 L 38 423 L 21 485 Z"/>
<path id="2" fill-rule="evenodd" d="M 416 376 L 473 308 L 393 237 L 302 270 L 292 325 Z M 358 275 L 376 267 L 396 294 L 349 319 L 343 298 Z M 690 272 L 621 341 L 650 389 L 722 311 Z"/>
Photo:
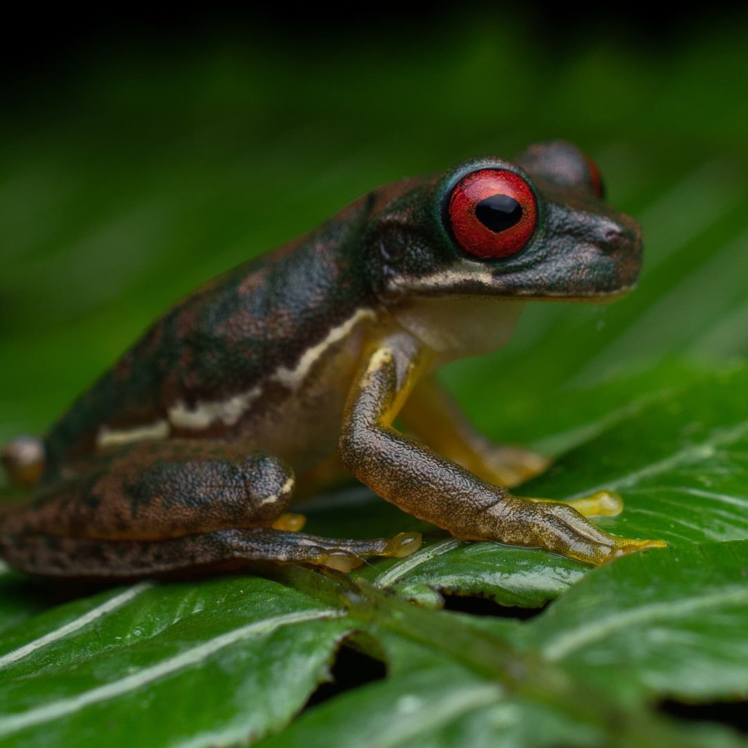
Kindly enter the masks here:
<path id="1" fill-rule="evenodd" d="M 366 556 L 402 557 L 418 533 L 343 540 L 294 532 L 291 468 L 269 453 L 205 441 L 144 442 L 67 468 L 31 506 L 0 518 L 0 557 L 70 577 L 131 578 L 252 561 L 349 571 Z"/>

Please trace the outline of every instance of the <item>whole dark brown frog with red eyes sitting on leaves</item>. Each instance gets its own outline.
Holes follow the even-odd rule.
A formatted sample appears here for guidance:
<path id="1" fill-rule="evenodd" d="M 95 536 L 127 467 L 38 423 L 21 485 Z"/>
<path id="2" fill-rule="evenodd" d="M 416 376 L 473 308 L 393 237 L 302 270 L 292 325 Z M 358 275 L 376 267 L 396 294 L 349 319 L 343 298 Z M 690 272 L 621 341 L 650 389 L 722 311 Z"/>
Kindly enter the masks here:
<path id="1" fill-rule="evenodd" d="M 7 444 L 30 500 L 4 509 L 0 557 L 108 580 L 267 562 L 348 572 L 420 548 L 408 530 L 304 533 L 292 501 L 344 476 L 465 542 L 589 565 L 661 548 L 590 520 L 621 511 L 613 492 L 513 493 L 548 459 L 489 441 L 435 375 L 504 346 L 528 301 L 622 297 L 642 254 L 640 226 L 566 141 L 376 188 L 187 295 L 43 438 Z"/>

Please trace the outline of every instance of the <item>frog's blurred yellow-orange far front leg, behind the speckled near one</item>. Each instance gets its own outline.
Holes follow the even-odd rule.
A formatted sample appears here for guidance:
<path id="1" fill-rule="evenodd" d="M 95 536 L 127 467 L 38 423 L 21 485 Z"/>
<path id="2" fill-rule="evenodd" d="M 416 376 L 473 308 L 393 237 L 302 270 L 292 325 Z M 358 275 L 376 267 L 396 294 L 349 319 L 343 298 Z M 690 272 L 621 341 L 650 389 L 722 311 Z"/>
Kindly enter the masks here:
<path id="1" fill-rule="evenodd" d="M 524 447 L 492 444 L 433 376 L 417 382 L 400 415 L 424 444 L 490 483 L 512 488 L 550 465 L 550 460 Z"/>

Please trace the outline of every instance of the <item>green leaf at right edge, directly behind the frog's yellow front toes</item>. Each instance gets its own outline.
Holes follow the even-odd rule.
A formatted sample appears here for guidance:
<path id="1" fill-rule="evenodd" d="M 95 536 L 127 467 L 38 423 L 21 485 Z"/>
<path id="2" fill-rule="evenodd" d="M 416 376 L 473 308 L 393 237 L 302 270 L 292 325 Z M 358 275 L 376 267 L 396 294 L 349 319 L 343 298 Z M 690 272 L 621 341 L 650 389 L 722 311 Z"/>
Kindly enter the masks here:
<path id="1" fill-rule="evenodd" d="M 625 512 L 600 524 L 620 535 L 673 545 L 745 538 L 748 420 L 735 396 L 747 388 L 748 367 L 740 367 L 671 390 L 523 492 L 568 499 L 598 488 L 619 491 Z"/>

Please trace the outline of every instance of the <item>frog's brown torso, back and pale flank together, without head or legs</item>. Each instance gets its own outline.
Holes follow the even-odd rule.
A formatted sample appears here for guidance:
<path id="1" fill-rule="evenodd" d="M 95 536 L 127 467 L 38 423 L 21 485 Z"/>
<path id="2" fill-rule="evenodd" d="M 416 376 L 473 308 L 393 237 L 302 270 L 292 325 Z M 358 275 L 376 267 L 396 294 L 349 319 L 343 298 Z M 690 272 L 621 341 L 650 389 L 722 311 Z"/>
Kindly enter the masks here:
<path id="1" fill-rule="evenodd" d="M 297 470 L 319 459 L 312 435 L 333 451 L 362 328 L 374 317 L 355 251 L 370 203 L 359 200 L 165 314 L 49 432 L 47 473 L 138 436 L 238 442 Z"/>

